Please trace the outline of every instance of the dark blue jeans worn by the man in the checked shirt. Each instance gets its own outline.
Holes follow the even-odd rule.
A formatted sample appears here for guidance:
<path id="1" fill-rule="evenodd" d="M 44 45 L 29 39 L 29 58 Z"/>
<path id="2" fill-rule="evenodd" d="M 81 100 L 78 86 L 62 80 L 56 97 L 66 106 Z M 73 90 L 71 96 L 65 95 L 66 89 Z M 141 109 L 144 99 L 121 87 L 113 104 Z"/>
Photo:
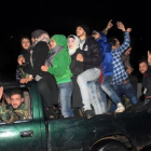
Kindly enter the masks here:
<path id="1" fill-rule="evenodd" d="M 115 85 L 113 84 L 113 90 L 118 94 L 118 96 L 123 100 L 122 95 L 126 95 L 127 98 L 131 100 L 132 105 L 135 105 L 138 102 L 136 91 L 134 90 L 132 83 L 129 80 L 127 80 L 127 83 L 124 84 L 122 83 L 121 85 Z M 110 112 L 114 112 L 115 110 L 115 105 L 111 104 Z"/>

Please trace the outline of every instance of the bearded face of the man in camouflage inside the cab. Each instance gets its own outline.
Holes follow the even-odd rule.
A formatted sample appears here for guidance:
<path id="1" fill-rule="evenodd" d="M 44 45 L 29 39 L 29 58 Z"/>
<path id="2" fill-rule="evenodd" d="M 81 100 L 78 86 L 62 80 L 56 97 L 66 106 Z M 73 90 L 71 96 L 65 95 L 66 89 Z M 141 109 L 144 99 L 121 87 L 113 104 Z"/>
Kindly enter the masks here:
<path id="1" fill-rule="evenodd" d="M 11 105 L 14 109 L 17 109 L 22 102 L 24 101 L 24 98 L 19 94 L 14 94 L 11 96 Z"/>

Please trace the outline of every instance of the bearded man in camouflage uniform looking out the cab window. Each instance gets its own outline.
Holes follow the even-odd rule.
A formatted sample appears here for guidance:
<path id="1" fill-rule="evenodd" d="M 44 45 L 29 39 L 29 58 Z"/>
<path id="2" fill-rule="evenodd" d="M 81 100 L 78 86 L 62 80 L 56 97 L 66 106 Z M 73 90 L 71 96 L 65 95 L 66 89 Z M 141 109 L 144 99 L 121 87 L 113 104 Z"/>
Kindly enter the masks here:
<path id="1" fill-rule="evenodd" d="M 0 98 L 2 97 L 3 87 L 0 87 Z M 11 104 L 0 106 L 0 119 L 5 123 L 13 123 L 17 120 L 28 118 L 27 106 L 24 104 L 24 96 L 20 90 L 11 92 Z"/>

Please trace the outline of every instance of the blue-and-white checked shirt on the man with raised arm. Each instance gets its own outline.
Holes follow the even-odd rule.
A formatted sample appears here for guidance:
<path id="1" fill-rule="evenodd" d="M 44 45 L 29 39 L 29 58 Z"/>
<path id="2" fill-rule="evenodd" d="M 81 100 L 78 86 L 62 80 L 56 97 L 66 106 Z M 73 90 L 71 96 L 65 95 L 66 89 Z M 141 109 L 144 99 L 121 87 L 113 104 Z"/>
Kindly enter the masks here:
<path id="1" fill-rule="evenodd" d="M 129 32 L 124 32 L 124 41 L 116 50 L 112 50 L 113 57 L 113 79 L 112 84 L 121 85 L 128 78 L 123 66 L 121 56 L 128 49 L 131 42 Z"/>

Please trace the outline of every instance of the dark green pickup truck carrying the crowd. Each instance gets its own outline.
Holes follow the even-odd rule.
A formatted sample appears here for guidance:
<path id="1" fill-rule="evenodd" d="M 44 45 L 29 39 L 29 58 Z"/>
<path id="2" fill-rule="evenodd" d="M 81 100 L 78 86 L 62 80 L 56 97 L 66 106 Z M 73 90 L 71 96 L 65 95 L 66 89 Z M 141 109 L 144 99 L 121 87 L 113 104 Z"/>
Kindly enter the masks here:
<path id="1" fill-rule="evenodd" d="M 0 122 L 0 151 L 142 151 L 151 147 L 151 109 L 47 120 L 36 83 L 0 82 L 24 91 L 29 116 Z"/>

